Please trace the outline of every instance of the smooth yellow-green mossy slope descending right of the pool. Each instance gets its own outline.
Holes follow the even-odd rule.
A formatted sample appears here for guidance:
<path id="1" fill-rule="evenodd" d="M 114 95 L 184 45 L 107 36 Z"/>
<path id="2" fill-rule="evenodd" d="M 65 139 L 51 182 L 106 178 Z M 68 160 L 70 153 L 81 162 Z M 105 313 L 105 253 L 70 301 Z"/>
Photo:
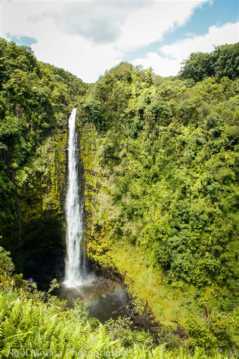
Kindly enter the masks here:
<path id="1" fill-rule="evenodd" d="M 132 296 L 148 304 L 156 321 L 176 329 L 184 326 L 189 312 L 199 313 L 194 288 L 174 288 L 163 282 L 159 271 L 150 264 L 150 253 L 129 243 L 109 243 L 103 238 L 88 241 L 88 254 L 103 269 L 119 273 Z"/>

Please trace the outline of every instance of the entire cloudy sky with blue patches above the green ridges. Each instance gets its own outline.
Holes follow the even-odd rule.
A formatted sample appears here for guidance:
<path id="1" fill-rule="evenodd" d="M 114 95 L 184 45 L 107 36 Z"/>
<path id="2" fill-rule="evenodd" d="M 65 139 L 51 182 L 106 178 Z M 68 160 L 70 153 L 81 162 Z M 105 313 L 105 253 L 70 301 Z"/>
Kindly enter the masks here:
<path id="1" fill-rule="evenodd" d="M 0 36 L 95 82 L 121 61 L 176 75 L 193 52 L 239 41 L 238 0 L 0 0 Z"/>

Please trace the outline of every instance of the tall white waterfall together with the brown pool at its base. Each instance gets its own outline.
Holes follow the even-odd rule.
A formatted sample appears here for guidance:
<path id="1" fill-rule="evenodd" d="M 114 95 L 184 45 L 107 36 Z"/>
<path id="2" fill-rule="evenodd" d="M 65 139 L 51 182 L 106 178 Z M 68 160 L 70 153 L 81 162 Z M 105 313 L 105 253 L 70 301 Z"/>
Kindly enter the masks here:
<path id="1" fill-rule="evenodd" d="M 122 285 L 113 282 L 102 275 L 95 275 L 86 260 L 86 248 L 82 243 L 83 237 L 83 208 L 84 200 L 81 187 L 84 185 L 83 176 L 79 178 L 80 152 L 77 146 L 77 122 L 74 107 L 69 117 L 68 134 L 68 175 L 66 195 L 66 244 L 67 259 L 65 280 L 57 292 L 59 298 L 68 299 L 70 305 L 75 298 L 87 302 L 91 317 L 102 321 L 116 318 L 118 309 L 128 303 L 127 293 Z M 83 174 L 82 174 L 83 175 Z M 64 288 L 66 287 L 66 288 Z"/>

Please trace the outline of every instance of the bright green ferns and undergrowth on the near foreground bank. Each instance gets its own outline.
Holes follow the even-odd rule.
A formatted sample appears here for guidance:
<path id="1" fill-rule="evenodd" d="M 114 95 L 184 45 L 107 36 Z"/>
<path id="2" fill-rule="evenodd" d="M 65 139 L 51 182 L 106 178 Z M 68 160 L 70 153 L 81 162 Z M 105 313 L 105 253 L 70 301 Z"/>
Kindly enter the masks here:
<path id="1" fill-rule="evenodd" d="M 25 283 L 26 287 L 26 283 Z M 101 324 L 87 318 L 84 304 L 75 300 L 68 309 L 66 301 L 35 286 L 16 288 L 4 272 L 0 276 L 0 353 L 1 357 L 84 357 L 101 358 L 206 358 L 196 349 L 193 356 L 179 350 L 154 346 L 148 333 L 131 331 L 123 319 Z M 215 359 L 227 358 L 216 354 Z M 232 355 L 230 357 L 233 357 Z"/>

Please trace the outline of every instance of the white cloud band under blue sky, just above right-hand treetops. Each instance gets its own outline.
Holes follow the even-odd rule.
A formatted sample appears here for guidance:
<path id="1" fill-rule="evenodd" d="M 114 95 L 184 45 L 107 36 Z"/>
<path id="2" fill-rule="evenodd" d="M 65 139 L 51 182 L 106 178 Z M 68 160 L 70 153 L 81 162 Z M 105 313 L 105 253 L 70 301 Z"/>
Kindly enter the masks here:
<path id="1" fill-rule="evenodd" d="M 159 48 L 164 57 L 157 53 L 148 53 L 145 58 L 136 59 L 133 65 L 143 65 L 145 68 L 153 67 L 156 74 L 161 76 L 176 75 L 181 69 L 181 63 L 191 53 L 208 53 L 214 50 L 214 46 L 239 41 L 239 22 L 227 23 L 221 27 L 211 26 L 207 34 L 188 37 L 184 40 L 164 45 Z"/>

